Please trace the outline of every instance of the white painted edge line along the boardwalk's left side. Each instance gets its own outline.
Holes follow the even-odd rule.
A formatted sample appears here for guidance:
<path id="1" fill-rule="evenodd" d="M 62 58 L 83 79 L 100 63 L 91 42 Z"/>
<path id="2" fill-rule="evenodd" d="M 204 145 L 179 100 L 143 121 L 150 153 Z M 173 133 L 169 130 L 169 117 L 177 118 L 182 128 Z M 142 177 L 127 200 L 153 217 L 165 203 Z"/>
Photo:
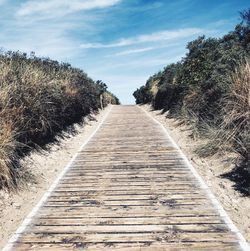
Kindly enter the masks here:
<path id="1" fill-rule="evenodd" d="M 100 127 L 103 125 L 105 122 L 106 118 L 110 114 L 113 106 L 110 105 L 109 110 L 107 113 L 104 115 L 102 118 L 101 122 L 98 124 L 96 129 L 91 133 L 91 135 L 83 142 L 83 144 L 80 146 L 79 150 L 75 153 L 75 155 L 71 158 L 69 163 L 63 168 L 59 176 L 55 179 L 55 181 L 52 183 L 52 185 L 49 187 L 49 189 L 44 193 L 40 201 L 36 204 L 36 206 L 32 209 L 32 211 L 27 215 L 27 217 L 23 220 L 21 225 L 18 227 L 18 229 L 15 231 L 15 233 L 12 235 L 12 237 L 9 239 L 8 243 L 6 246 L 2 249 L 2 251 L 10 251 L 13 247 L 13 244 L 17 241 L 19 236 L 24 232 L 24 230 L 27 228 L 27 226 L 30 224 L 31 220 L 33 217 L 36 215 L 38 210 L 42 207 L 42 205 L 46 202 L 48 197 L 51 195 L 55 187 L 58 185 L 59 181 L 61 178 L 64 176 L 64 174 L 69 170 L 71 167 L 72 163 L 75 161 L 76 157 L 78 156 L 79 152 L 83 150 L 85 145 L 94 137 L 96 132 L 100 129 Z"/>

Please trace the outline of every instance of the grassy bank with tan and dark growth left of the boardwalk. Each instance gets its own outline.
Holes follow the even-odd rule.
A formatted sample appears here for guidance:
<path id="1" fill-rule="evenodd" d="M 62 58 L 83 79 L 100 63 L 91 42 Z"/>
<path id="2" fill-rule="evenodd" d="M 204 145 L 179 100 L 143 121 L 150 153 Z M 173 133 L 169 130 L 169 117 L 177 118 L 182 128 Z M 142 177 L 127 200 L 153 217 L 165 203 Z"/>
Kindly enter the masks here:
<path id="1" fill-rule="evenodd" d="M 21 157 L 109 103 L 119 100 L 80 69 L 33 53 L 0 53 L 0 188 L 17 185 Z"/>

